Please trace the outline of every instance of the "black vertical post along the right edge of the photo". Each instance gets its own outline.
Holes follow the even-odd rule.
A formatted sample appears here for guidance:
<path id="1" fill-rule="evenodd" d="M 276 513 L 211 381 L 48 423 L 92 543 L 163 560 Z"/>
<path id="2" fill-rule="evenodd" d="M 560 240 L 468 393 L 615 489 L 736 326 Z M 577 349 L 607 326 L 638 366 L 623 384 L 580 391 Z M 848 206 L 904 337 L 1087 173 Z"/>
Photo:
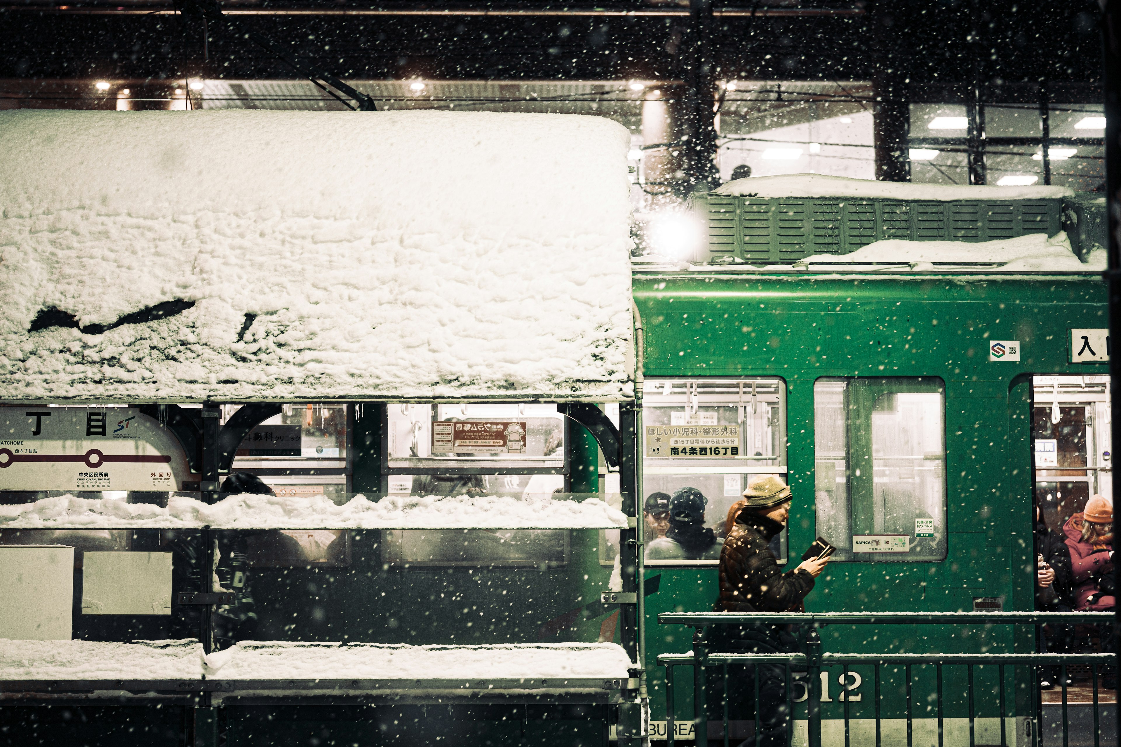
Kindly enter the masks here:
<path id="1" fill-rule="evenodd" d="M 1121 2 L 1106 0 L 1102 8 L 1102 87 L 1105 94 L 1105 214 L 1109 221 L 1109 270 L 1105 281 L 1109 284 L 1110 302 L 1110 338 L 1113 333 L 1121 334 Z M 1121 443 L 1121 405 L 1113 396 L 1113 383 L 1121 382 L 1121 356 L 1110 356 L 1110 412 L 1112 414 L 1113 443 Z M 1113 536 L 1121 532 L 1121 522 L 1113 512 Z M 1115 580 L 1121 580 L 1121 563 L 1113 563 Z M 1121 631 L 1121 616 L 1114 614 L 1113 652 L 1118 651 L 1118 633 Z M 1119 671 L 1119 662 L 1114 657 L 1114 673 Z M 1121 719 L 1121 699 L 1114 706 L 1117 716 Z"/>

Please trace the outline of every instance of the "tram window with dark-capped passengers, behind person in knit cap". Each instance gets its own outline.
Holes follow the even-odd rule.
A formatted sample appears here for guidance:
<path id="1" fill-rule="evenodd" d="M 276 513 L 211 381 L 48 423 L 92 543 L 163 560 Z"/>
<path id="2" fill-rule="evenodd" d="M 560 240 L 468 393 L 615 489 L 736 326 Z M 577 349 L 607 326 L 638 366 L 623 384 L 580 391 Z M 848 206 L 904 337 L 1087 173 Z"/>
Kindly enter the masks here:
<path id="1" fill-rule="evenodd" d="M 748 480 L 757 475 L 786 480 L 786 383 L 773 377 L 648 379 L 642 428 L 645 562 L 716 564 L 729 511 Z M 695 529 L 669 525 L 668 502 L 675 494 L 695 514 Z M 786 543 L 786 531 L 772 542 L 780 562 Z"/>

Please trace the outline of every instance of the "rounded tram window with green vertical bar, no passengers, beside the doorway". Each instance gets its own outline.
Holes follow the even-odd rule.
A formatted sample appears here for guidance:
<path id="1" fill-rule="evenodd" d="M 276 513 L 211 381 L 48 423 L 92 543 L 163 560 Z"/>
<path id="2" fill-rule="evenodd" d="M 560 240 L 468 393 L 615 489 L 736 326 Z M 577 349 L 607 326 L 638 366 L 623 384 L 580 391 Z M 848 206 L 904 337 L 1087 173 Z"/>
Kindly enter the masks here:
<path id="1" fill-rule="evenodd" d="M 814 384 L 817 533 L 835 560 L 945 559 L 944 391 L 927 377 Z"/>

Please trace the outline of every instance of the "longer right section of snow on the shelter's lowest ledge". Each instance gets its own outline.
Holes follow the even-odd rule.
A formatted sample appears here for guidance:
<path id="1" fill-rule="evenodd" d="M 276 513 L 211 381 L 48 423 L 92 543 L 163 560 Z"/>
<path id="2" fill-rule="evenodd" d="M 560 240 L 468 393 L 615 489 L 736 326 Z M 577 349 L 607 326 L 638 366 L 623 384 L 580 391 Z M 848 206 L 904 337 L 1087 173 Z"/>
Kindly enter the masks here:
<path id="1" fill-rule="evenodd" d="M 242 642 L 206 656 L 220 680 L 626 679 L 634 666 L 614 643 L 410 646 Z"/>

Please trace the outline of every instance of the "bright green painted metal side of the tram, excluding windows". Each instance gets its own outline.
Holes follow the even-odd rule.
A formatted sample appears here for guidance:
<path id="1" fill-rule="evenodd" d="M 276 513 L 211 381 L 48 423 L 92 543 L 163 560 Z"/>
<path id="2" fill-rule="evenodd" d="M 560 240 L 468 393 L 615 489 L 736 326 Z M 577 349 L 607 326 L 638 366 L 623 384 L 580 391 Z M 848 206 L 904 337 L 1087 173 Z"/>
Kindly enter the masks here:
<path id="1" fill-rule="evenodd" d="M 814 511 L 814 382 L 823 376 L 937 376 L 945 384 L 947 557 L 930 562 L 834 562 L 806 599 L 813 611 L 956 611 L 974 597 L 1032 609 L 1030 374 L 1105 374 L 1108 364 L 1071 364 L 1072 328 L 1108 327 L 1106 292 L 1094 276 L 942 276 L 640 272 L 634 299 L 645 329 L 647 379 L 780 376 L 787 385 L 787 468 L 794 491 L 791 566 L 817 535 Z M 1019 362 L 989 360 L 990 339 L 1018 339 Z M 712 608 L 716 569 L 648 567 L 646 667 L 651 718 L 665 718 L 661 653 L 687 652 L 692 628 L 659 625 L 664 611 Z M 1030 652 L 1029 626 L 828 626 L 836 653 Z M 840 667 L 823 718 L 842 718 Z M 902 667 L 883 667 L 883 717 L 904 718 Z M 934 667 L 915 666 L 914 692 L 935 689 Z M 1007 676 L 1008 703 L 1028 713 L 1030 674 Z M 961 671 L 957 671 L 961 670 Z M 988 671 L 985 671 L 988 670 Z M 872 718 L 872 667 L 853 718 Z M 1010 672 L 1011 670 L 1009 670 Z M 692 712 L 680 670 L 677 716 Z M 947 718 L 966 717 L 965 667 L 945 671 Z M 995 667 L 978 673 L 978 715 L 997 709 Z M 851 680 L 849 681 L 851 683 Z M 898 695 L 898 697 L 896 697 Z M 991 702 L 990 702 L 991 701 Z M 720 718 L 719 698 L 710 698 Z M 731 718 L 736 713 L 732 699 Z M 921 699 L 923 709 L 926 708 Z M 804 704 L 799 707 L 805 718 Z M 1023 710 L 1020 710 L 1023 708 Z M 796 718 L 799 711 L 796 710 Z M 1011 711 L 1009 711 L 1011 713 Z M 916 718 L 934 712 L 915 712 Z"/>

